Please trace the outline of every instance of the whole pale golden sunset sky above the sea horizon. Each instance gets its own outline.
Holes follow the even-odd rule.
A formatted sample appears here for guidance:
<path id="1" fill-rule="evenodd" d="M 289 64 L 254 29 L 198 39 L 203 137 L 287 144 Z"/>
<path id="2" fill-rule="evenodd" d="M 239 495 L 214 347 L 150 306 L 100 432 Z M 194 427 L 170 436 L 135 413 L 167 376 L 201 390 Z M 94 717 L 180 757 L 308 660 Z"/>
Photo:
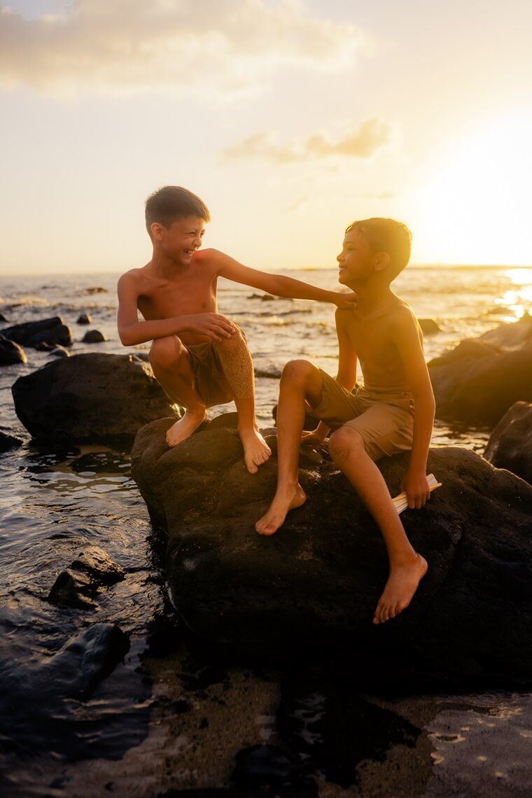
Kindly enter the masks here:
<path id="1" fill-rule="evenodd" d="M 0 273 L 143 265 L 164 184 L 266 271 L 374 215 L 413 263 L 530 265 L 531 32 L 529 0 L 3 0 Z"/>

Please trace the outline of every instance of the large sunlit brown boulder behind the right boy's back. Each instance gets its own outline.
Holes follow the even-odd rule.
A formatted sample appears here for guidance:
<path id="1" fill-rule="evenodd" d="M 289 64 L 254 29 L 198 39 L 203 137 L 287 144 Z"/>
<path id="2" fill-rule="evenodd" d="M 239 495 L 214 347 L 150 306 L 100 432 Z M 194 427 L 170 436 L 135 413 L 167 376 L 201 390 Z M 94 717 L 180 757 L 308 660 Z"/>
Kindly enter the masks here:
<path id="1" fill-rule="evenodd" d="M 467 339 L 428 364 L 436 415 L 494 426 L 516 401 L 532 401 L 532 317 Z"/>

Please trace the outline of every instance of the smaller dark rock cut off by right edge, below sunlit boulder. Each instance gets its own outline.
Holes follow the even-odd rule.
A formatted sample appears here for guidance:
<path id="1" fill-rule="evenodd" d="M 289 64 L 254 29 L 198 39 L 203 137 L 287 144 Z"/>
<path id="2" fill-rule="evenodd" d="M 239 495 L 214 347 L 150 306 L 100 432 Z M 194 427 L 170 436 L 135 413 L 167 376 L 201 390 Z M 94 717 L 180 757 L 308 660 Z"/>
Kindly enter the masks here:
<path id="1" fill-rule="evenodd" d="M 484 456 L 532 484 L 532 405 L 518 401 L 510 407 L 491 433 Z"/>

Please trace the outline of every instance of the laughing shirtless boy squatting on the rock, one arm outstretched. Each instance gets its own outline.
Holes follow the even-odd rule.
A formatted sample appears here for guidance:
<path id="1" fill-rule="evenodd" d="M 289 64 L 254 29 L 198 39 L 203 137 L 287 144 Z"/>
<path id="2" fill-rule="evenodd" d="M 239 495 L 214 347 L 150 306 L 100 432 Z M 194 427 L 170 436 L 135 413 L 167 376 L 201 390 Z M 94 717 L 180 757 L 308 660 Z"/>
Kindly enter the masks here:
<path id="1" fill-rule="evenodd" d="M 352 307 L 356 298 L 250 269 L 213 249 L 199 251 L 210 218 L 202 200 L 186 188 L 165 186 L 148 198 L 152 259 L 118 281 L 118 331 L 124 346 L 153 341 L 153 373 L 185 409 L 167 432 L 168 444 L 175 446 L 191 435 L 207 418 L 208 407 L 234 400 L 246 467 L 256 473 L 271 452 L 255 420 L 254 371 L 246 338 L 217 312 L 218 278 L 342 308 Z"/>

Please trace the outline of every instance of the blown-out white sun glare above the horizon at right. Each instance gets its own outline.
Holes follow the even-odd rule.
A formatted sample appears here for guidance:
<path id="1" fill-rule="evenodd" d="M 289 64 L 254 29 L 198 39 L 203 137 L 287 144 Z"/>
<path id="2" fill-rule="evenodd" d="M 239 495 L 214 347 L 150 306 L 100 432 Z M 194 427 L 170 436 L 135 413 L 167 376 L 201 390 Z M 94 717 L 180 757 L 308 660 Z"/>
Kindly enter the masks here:
<path id="1" fill-rule="evenodd" d="M 424 251 L 439 263 L 532 264 L 532 117 L 486 124 L 416 196 Z"/>

